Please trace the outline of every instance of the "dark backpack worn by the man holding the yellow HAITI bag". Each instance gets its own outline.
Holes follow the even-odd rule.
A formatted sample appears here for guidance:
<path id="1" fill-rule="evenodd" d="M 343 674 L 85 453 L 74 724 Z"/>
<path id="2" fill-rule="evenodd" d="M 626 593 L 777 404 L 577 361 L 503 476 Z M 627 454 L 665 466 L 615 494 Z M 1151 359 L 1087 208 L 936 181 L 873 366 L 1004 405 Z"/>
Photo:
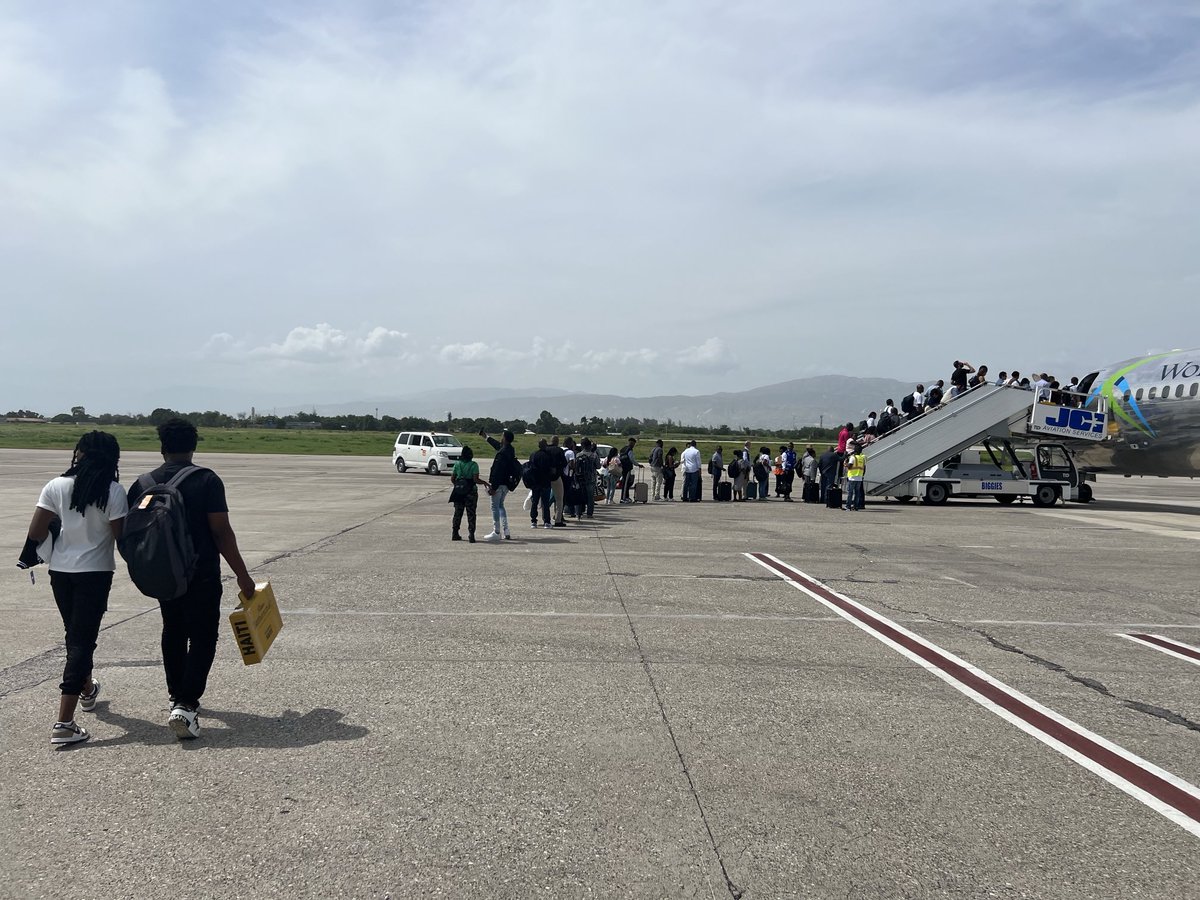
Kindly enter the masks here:
<path id="1" fill-rule="evenodd" d="M 198 559 L 179 486 L 199 466 L 186 466 L 170 481 L 138 479 L 142 494 L 125 517 L 116 547 L 130 569 L 130 581 L 146 596 L 174 600 L 187 590 Z"/>

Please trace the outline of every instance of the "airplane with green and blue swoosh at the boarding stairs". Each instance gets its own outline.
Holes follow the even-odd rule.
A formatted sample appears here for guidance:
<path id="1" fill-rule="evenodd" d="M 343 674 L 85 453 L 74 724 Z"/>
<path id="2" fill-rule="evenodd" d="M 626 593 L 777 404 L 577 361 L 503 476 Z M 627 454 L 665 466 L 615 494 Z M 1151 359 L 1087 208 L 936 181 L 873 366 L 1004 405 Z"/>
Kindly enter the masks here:
<path id="1" fill-rule="evenodd" d="M 1134 356 L 1080 382 L 1085 407 L 1108 407 L 1108 439 L 1070 442 L 1085 472 L 1200 475 L 1200 349 Z"/>

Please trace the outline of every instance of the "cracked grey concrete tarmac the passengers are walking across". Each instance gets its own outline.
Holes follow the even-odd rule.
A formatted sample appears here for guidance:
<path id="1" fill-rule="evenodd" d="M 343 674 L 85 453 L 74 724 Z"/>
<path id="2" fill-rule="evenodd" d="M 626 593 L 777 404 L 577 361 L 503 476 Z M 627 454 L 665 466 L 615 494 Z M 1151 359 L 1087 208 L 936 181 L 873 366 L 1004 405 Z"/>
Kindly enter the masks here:
<path id="1" fill-rule="evenodd" d="M 66 457 L 0 451 L 10 565 Z M 122 481 L 155 458 L 126 454 Z M 247 667 L 222 623 L 180 743 L 157 606 L 119 570 L 92 738 L 55 751 L 61 622 L 44 568 L 11 568 L 0 896 L 1200 896 L 1196 832 L 745 556 L 1194 786 L 1200 666 L 1118 635 L 1200 646 L 1200 485 L 1102 478 L 1051 510 L 601 505 L 551 530 L 522 488 L 515 540 L 470 545 L 449 480 L 386 458 L 197 461 L 284 630 Z"/>

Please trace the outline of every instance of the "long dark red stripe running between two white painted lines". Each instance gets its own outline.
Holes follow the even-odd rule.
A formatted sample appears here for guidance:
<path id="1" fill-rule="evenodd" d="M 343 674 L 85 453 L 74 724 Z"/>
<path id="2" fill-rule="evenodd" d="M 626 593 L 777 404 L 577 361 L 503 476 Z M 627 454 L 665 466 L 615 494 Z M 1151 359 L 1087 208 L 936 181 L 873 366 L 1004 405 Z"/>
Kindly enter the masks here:
<path id="1" fill-rule="evenodd" d="M 862 622 L 872 631 L 886 636 L 889 641 L 900 644 L 910 653 L 920 656 L 923 660 L 941 670 L 954 680 L 966 685 L 976 694 L 986 697 L 996 706 L 1020 718 L 1042 733 L 1052 737 L 1055 740 L 1069 746 L 1075 752 L 1086 756 L 1097 766 L 1100 766 L 1121 776 L 1129 784 L 1140 787 L 1152 797 L 1156 797 L 1169 806 L 1178 810 L 1194 822 L 1200 823 L 1200 799 L 1193 797 L 1187 791 L 1176 787 L 1170 781 L 1159 778 L 1153 772 L 1148 772 L 1138 763 L 1112 752 L 1106 746 L 1096 743 L 1085 734 L 1080 734 L 1072 727 L 1051 719 L 1045 713 L 1042 713 L 1040 710 L 1031 707 L 1028 703 L 1018 700 L 1004 689 L 984 680 L 974 672 L 949 659 L 941 652 L 931 647 L 926 647 L 919 641 L 912 640 L 912 637 L 902 631 L 898 631 L 887 622 L 881 620 L 865 610 L 860 610 L 853 604 L 846 602 L 842 598 L 838 596 L 824 586 L 812 581 L 803 572 L 779 563 L 764 553 L 752 553 L 751 556 L 769 569 L 773 569 L 780 575 L 803 584 L 805 589 L 811 590 L 814 594 L 820 595 L 839 610 L 845 611 L 847 616 Z"/>

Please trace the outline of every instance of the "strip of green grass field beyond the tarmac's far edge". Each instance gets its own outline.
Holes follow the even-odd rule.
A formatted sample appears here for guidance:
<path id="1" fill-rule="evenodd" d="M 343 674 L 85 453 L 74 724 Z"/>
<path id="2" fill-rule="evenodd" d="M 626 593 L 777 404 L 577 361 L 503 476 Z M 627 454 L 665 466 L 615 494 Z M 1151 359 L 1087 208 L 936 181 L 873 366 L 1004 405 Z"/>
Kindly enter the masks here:
<path id="1" fill-rule="evenodd" d="M 0 425 L 0 449 L 2 450 L 62 450 L 70 452 L 79 437 L 94 427 L 90 425 Z M 101 428 L 113 434 L 122 450 L 157 450 L 158 438 L 150 426 L 109 425 Z M 478 434 L 457 434 L 458 439 L 472 448 L 481 457 L 491 457 L 492 449 Z M 200 452 L 205 454 L 295 454 L 311 456 L 391 456 L 395 434 L 382 431 L 287 431 L 268 428 L 200 428 Z M 642 461 L 649 456 L 655 436 L 643 436 L 637 440 L 637 457 Z M 742 436 L 700 437 L 697 445 L 706 452 L 712 452 L 721 445 L 726 452 L 731 448 L 742 446 L 746 439 Z M 596 443 L 623 446 L 625 438 L 616 434 L 595 438 Z M 664 445 L 677 446 L 680 451 L 686 446 L 689 436 L 664 434 Z M 751 436 L 751 446 L 757 450 L 766 445 L 774 452 L 780 444 L 779 438 L 760 438 Z M 797 439 L 797 446 L 805 443 Z M 527 458 L 538 446 L 536 434 L 518 434 L 517 456 Z M 822 448 L 814 443 L 820 452 Z"/>

